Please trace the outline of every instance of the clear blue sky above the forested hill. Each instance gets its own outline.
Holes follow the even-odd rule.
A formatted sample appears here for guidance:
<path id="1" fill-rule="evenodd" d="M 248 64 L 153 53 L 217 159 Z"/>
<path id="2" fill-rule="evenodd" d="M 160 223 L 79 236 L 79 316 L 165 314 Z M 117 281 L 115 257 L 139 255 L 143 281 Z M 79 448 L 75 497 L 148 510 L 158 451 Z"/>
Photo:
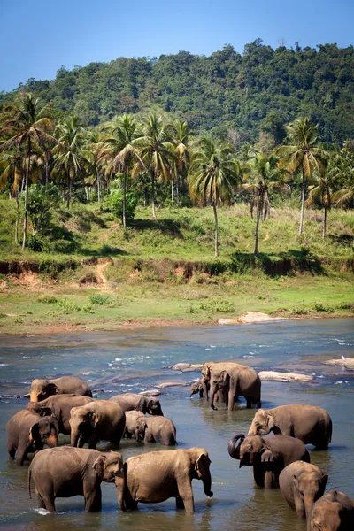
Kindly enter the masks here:
<path id="1" fill-rule="evenodd" d="M 354 0 L 2 0 L 0 90 L 118 57 L 354 42 Z"/>

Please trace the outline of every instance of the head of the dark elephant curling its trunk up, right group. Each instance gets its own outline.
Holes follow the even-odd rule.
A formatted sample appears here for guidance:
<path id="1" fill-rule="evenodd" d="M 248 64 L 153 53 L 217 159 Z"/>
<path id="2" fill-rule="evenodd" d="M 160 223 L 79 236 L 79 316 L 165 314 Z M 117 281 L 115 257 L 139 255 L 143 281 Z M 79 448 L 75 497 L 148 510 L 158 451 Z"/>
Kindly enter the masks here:
<path id="1" fill-rule="evenodd" d="M 236 446 L 238 440 L 240 442 Z M 265 439 L 259 435 L 235 435 L 228 443 L 228 453 L 232 458 L 240 459 L 240 468 L 276 460 Z"/>

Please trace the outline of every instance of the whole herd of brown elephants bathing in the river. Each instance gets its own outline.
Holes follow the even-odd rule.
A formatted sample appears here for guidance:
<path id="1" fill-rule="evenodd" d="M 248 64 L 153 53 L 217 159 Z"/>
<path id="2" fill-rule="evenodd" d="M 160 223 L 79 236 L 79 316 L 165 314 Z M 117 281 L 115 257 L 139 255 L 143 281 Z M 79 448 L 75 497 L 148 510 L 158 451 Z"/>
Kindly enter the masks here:
<path id="1" fill-rule="evenodd" d="M 280 488 L 297 515 L 306 519 L 308 531 L 354 529 L 354 502 L 339 490 L 324 494 L 328 476 L 310 463 L 305 447 L 311 443 L 327 450 L 332 420 L 326 410 L 310 404 L 261 409 L 258 373 L 234 362 L 205 363 L 190 396 L 196 392 L 204 400 L 210 392 L 213 410 L 217 402 L 233 410 L 239 396 L 247 407 L 258 407 L 248 435 L 235 435 L 228 453 L 240 460 L 240 468 L 253 466 L 258 487 Z M 152 451 L 125 463 L 119 452 L 96 450 L 99 441 L 118 446 L 122 437 L 176 445 L 176 428 L 164 417 L 157 397 L 126 393 L 96 400 L 89 385 L 73 376 L 34 380 L 29 397 L 27 409 L 15 413 L 6 429 L 10 458 L 22 465 L 27 454 L 35 452 L 28 489 L 31 495 L 33 480 L 38 507 L 55 512 L 56 497 L 81 495 L 86 511 L 99 511 L 102 481 L 115 483 L 122 511 L 135 509 L 138 502 L 174 497 L 177 508 L 194 512 L 193 479 L 203 481 L 205 495 L 212 497 L 211 460 L 204 448 Z M 58 446 L 59 433 L 70 435 L 71 446 Z M 89 449 L 83 448 L 85 443 Z M 44 444 L 49 448 L 43 450 Z"/>

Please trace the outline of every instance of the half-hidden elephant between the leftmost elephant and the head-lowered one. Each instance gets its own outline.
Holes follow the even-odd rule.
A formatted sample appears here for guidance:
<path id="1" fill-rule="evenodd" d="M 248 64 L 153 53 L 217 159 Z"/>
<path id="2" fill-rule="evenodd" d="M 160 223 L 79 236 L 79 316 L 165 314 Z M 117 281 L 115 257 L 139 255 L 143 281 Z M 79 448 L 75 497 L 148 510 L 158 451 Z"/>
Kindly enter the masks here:
<path id="1" fill-rule="evenodd" d="M 82 395 L 53 395 L 42 402 L 29 402 L 27 409 L 31 412 L 53 415 L 58 419 L 59 434 L 70 435 L 70 412 L 73 407 L 93 402 L 93 398 Z"/>

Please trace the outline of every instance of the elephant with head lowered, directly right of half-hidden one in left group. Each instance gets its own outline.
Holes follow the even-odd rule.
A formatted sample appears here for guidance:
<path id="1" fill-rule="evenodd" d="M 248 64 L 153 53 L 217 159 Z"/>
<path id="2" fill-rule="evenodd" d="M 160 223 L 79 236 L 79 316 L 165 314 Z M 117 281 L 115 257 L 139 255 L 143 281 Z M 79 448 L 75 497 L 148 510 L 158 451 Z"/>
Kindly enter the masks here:
<path id="1" fill-rule="evenodd" d="M 73 407 L 70 417 L 71 445 L 82 448 L 89 443 L 89 448 L 95 449 L 96 443 L 104 440 L 118 446 L 125 426 L 125 412 L 109 400 L 94 400 Z"/>

